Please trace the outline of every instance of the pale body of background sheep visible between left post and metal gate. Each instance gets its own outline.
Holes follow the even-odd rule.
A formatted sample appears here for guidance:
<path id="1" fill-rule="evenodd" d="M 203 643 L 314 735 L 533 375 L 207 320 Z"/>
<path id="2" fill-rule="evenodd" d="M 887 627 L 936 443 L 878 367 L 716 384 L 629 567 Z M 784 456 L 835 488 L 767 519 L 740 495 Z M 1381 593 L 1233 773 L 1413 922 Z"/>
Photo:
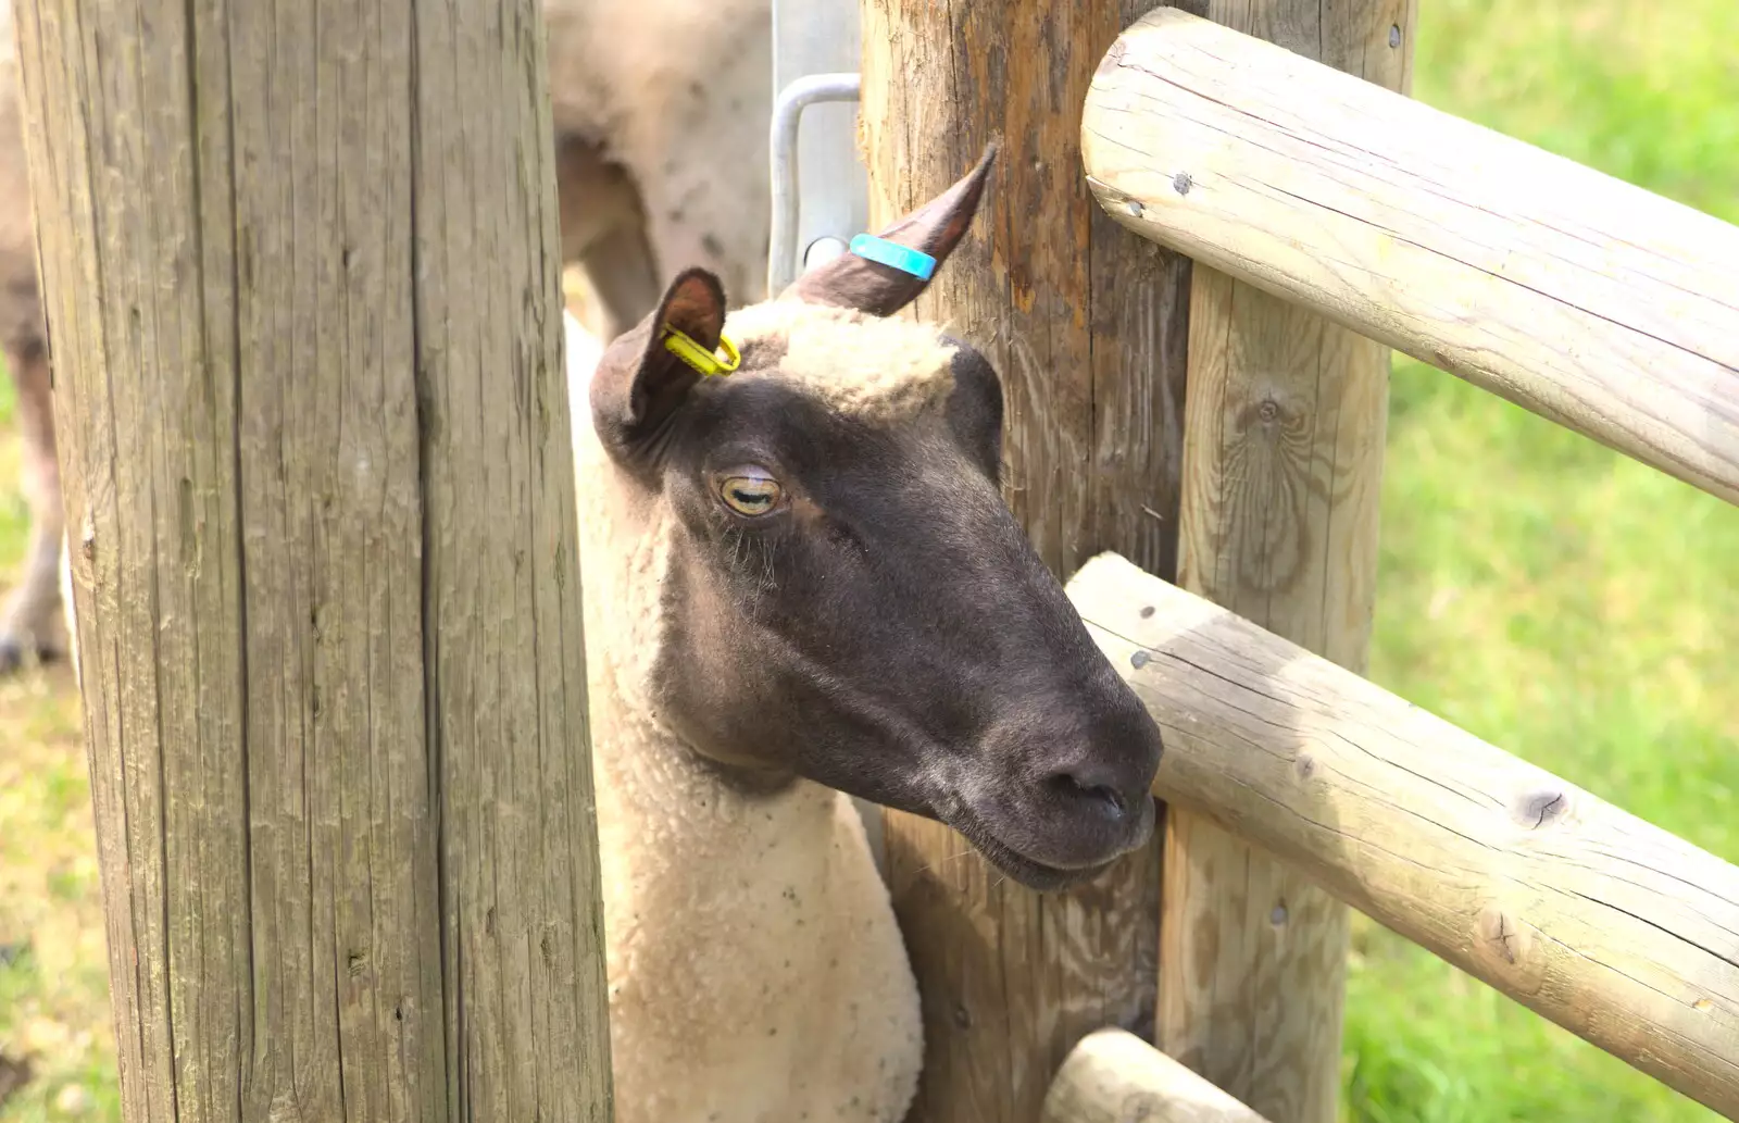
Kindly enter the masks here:
<path id="1" fill-rule="evenodd" d="M 755 302 L 770 226 L 770 2 L 543 0 L 543 9 L 562 254 L 584 268 L 607 309 L 586 327 L 609 342 L 690 266 Z"/>

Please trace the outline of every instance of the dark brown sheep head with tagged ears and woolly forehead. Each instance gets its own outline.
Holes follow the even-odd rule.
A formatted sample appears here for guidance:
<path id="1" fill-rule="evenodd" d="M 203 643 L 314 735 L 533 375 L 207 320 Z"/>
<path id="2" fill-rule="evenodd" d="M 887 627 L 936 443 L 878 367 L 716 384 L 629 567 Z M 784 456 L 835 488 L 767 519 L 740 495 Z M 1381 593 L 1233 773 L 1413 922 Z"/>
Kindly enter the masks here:
<path id="1" fill-rule="evenodd" d="M 941 264 L 995 150 L 882 236 Z M 1153 831 L 1160 732 L 1002 501 L 1002 382 L 845 254 L 727 318 L 706 271 L 591 381 L 617 487 L 668 504 L 652 694 L 744 791 L 803 775 L 939 819 L 1035 888 Z M 703 377 L 670 325 L 741 363 Z"/>

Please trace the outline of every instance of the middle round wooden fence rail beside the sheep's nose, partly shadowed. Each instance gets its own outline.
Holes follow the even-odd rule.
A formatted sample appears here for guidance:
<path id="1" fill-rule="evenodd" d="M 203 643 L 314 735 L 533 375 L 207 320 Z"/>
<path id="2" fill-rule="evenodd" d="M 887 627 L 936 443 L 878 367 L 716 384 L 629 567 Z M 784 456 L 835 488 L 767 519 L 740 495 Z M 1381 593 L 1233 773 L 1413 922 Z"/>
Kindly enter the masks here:
<path id="1" fill-rule="evenodd" d="M 1739 1118 L 1739 867 L 1122 558 L 1069 598 L 1174 814 Z"/>

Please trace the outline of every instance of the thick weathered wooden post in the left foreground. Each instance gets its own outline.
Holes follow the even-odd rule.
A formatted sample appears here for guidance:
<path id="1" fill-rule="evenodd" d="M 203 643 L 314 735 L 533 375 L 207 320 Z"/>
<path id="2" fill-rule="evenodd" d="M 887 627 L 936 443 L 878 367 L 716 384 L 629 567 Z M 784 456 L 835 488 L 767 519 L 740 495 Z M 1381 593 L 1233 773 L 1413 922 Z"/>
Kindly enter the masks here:
<path id="1" fill-rule="evenodd" d="M 536 0 L 17 33 L 125 1118 L 607 1120 Z"/>

